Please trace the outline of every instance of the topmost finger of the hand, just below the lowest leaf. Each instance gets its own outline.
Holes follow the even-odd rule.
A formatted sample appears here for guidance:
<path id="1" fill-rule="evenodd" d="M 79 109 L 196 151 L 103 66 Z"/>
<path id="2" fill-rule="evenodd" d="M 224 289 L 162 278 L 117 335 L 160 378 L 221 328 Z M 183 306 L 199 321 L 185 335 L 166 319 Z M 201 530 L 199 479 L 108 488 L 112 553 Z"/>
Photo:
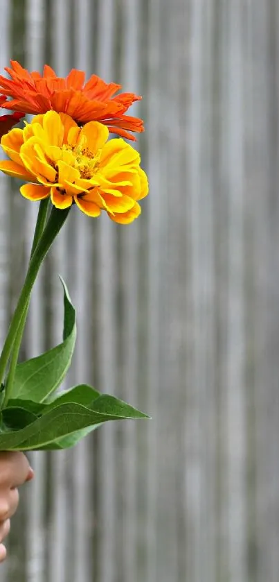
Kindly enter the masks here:
<path id="1" fill-rule="evenodd" d="M 26 456 L 21 452 L 0 454 L 0 488 L 23 485 L 30 471 Z"/>

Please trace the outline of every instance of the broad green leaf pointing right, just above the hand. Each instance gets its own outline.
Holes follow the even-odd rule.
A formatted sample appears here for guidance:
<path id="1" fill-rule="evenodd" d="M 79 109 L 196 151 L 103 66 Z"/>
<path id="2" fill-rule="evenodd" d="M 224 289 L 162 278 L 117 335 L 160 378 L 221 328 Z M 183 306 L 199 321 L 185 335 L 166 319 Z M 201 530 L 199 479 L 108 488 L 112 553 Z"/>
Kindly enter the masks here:
<path id="1" fill-rule="evenodd" d="M 100 426 L 103 422 L 108 420 L 123 420 L 148 418 L 146 414 L 134 409 L 129 404 L 118 400 L 109 395 L 98 395 L 96 391 L 89 386 L 75 386 L 71 391 L 64 393 L 58 397 L 54 402 L 44 405 L 44 412 L 40 418 L 30 421 L 30 414 L 28 410 L 28 403 L 26 407 L 26 420 L 28 424 L 19 430 L 5 431 L 0 436 L 0 450 L 44 450 L 57 449 L 73 446 L 80 438 L 89 431 Z M 87 396 L 84 397 L 84 393 Z M 70 393 L 75 398 L 80 397 L 82 400 L 89 400 L 93 395 L 91 403 L 87 406 L 79 402 L 62 401 L 63 397 L 69 399 Z M 95 398 L 94 398 L 95 396 Z M 60 401 L 60 402 L 57 402 Z M 55 405 L 57 404 L 57 405 Z M 21 402 L 24 406 L 24 401 Z M 10 408 L 3 411 L 3 413 L 10 414 L 10 422 L 12 422 L 12 413 L 15 411 L 17 417 L 19 416 L 19 406 L 17 408 Z M 22 415 L 23 413 L 21 413 Z M 5 419 L 3 418 L 4 422 Z M 18 421 L 17 421 L 18 422 Z"/>

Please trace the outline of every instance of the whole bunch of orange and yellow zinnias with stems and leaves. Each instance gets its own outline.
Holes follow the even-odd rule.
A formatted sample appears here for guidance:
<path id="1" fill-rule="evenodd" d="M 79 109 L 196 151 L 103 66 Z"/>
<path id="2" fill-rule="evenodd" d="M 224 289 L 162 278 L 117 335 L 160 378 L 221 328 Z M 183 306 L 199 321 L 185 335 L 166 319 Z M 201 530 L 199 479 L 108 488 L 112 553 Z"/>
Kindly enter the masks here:
<path id="1" fill-rule="evenodd" d="M 148 182 L 140 155 L 125 141 L 143 131 L 143 121 L 126 114 L 133 93 L 73 69 L 66 78 L 44 67 L 29 73 L 18 62 L 0 76 L 1 147 L 8 159 L 0 170 L 23 180 L 24 198 L 39 202 L 24 285 L 0 355 L 0 450 L 71 447 L 108 420 L 147 418 L 116 397 L 87 384 L 57 392 L 75 345 L 75 309 L 64 287 L 63 341 L 39 357 L 17 363 L 30 293 L 39 268 L 75 204 L 87 216 L 107 212 L 120 224 L 141 213 L 138 200 Z M 14 128 L 33 114 L 24 129 Z M 109 133 L 120 137 L 109 139 Z M 124 138 L 124 139 L 123 139 Z"/>

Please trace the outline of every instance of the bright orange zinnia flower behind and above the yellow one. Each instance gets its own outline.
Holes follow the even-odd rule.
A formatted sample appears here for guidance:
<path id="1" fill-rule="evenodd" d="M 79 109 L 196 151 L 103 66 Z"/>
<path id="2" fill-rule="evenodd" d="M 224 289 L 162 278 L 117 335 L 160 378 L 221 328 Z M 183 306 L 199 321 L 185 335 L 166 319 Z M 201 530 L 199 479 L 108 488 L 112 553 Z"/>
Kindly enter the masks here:
<path id="1" fill-rule="evenodd" d="M 55 71 L 45 65 L 44 74 L 29 73 L 15 60 L 12 68 L 6 67 L 10 79 L 0 76 L 0 93 L 11 97 L 3 107 L 25 113 L 45 113 L 54 110 L 67 113 L 79 124 L 100 121 L 127 139 L 136 139 L 130 132 L 142 132 L 143 121 L 125 115 L 127 109 L 141 99 L 134 93 L 116 95 L 121 85 L 105 83 L 92 75 L 84 84 L 83 71 L 72 69 L 66 78 L 57 77 Z"/>

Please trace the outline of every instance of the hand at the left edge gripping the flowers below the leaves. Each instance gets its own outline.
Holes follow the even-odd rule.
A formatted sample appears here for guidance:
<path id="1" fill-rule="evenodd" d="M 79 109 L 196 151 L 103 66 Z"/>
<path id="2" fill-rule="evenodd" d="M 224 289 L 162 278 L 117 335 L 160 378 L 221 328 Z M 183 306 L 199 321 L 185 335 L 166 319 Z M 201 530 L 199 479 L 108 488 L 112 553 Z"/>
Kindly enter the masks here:
<path id="1" fill-rule="evenodd" d="M 17 487 L 33 479 L 34 472 L 28 459 L 20 452 L 0 452 L 0 562 L 6 558 L 6 547 L 1 543 L 10 531 L 10 517 L 17 511 Z"/>

